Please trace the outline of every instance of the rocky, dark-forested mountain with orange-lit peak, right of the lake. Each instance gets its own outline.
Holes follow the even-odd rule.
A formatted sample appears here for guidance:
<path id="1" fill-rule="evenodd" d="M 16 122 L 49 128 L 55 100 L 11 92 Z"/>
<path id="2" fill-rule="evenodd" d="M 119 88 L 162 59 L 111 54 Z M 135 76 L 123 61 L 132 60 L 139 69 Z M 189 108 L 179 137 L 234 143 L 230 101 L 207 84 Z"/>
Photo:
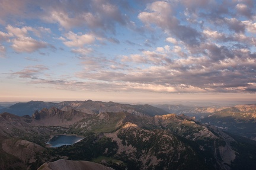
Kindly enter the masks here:
<path id="1" fill-rule="evenodd" d="M 168 131 L 145 130 L 126 123 L 116 133 L 105 135 L 119 146 L 114 158 L 135 162 L 128 169 L 207 169 L 207 163 L 197 157 L 192 147 Z"/>

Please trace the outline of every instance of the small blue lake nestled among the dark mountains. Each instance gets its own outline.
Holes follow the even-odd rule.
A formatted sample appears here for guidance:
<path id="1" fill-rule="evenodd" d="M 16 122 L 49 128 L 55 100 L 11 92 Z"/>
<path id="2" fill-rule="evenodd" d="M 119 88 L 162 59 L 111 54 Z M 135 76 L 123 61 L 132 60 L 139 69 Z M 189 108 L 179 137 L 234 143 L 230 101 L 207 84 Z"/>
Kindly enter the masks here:
<path id="1" fill-rule="evenodd" d="M 68 136 L 63 134 L 53 136 L 53 138 L 50 139 L 49 142 L 47 142 L 46 144 L 50 144 L 50 147 L 60 147 L 63 145 L 72 145 L 82 139 L 84 139 L 84 137 Z"/>

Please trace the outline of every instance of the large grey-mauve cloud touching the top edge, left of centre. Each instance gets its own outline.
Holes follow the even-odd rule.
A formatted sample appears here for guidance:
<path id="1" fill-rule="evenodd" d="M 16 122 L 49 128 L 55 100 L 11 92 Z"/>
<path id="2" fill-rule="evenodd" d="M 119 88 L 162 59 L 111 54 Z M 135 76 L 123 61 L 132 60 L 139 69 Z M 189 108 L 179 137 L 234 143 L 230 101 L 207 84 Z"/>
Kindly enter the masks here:
<path id="1" fill-rule="evenodd" d="M 52 7 L 44 5 L 42 19 L 49 23 L 58 23 L 71 30 L 78 26 L 87 26 L 91 31 L 115 31 L 115 25 L 125 25 L 126 16 L 112 1 L 55 2 Z"/>

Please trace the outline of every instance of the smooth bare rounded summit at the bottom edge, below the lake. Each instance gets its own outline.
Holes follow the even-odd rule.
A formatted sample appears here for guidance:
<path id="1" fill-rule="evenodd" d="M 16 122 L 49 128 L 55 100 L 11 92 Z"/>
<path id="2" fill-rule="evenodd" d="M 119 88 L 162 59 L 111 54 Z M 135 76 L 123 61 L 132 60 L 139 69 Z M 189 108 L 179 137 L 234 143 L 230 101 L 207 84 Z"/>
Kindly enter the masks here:
<path id="1" fill-rule="evenodd" d="M 38 170 L 113 170 L 113 168 L 89 161 L 71 161 L 60 159 L 55 162 L 44 163 Z"/>

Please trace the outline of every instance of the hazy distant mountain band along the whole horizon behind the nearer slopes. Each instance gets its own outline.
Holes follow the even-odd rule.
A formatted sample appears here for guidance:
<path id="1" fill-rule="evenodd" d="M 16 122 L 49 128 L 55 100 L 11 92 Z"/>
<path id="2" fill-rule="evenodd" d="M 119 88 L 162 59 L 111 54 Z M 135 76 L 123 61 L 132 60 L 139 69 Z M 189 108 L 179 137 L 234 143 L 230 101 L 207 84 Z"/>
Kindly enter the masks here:
<path id="1" fill-rule="evenodd" d="M 30 101 L 18 102 L 17 104 L 9 107 L 2 108 L 0 113 L 12 113 L 17 116 L 32 116 L 35 112 L 39 116 L 39 112 L 44 109 L 51 109 L 52 107 L 58 108 L 61 111 L 69 111 L 69 113 L 78 111 L 87 114 L 99 114 L 104 112 L 127 112 L 139 116 L 156 116 L 168 113 L 175 113 L 177 115 L 184 114 L 189 117 L 194 117 L 202 123 L 211 124 L 222 128 L 240 136 L 245 136 L 250 139 L 256 140 L 256 105 L 235 105 L 233 107 L 197 107 L 187 105 L 130 105 L 119 104 L 117 102 L 101 102 L 101 101 L 63 101 L 63 102 L 43 102 L 43 101 Z M 75 123 L 78 119 L 69 122 Z M 51 120 L 53 121 L 53 120 Z M 44 123 L 46 124 L 46 123 Z M 69 125 L 68 124 L 68 125 Z"/>

